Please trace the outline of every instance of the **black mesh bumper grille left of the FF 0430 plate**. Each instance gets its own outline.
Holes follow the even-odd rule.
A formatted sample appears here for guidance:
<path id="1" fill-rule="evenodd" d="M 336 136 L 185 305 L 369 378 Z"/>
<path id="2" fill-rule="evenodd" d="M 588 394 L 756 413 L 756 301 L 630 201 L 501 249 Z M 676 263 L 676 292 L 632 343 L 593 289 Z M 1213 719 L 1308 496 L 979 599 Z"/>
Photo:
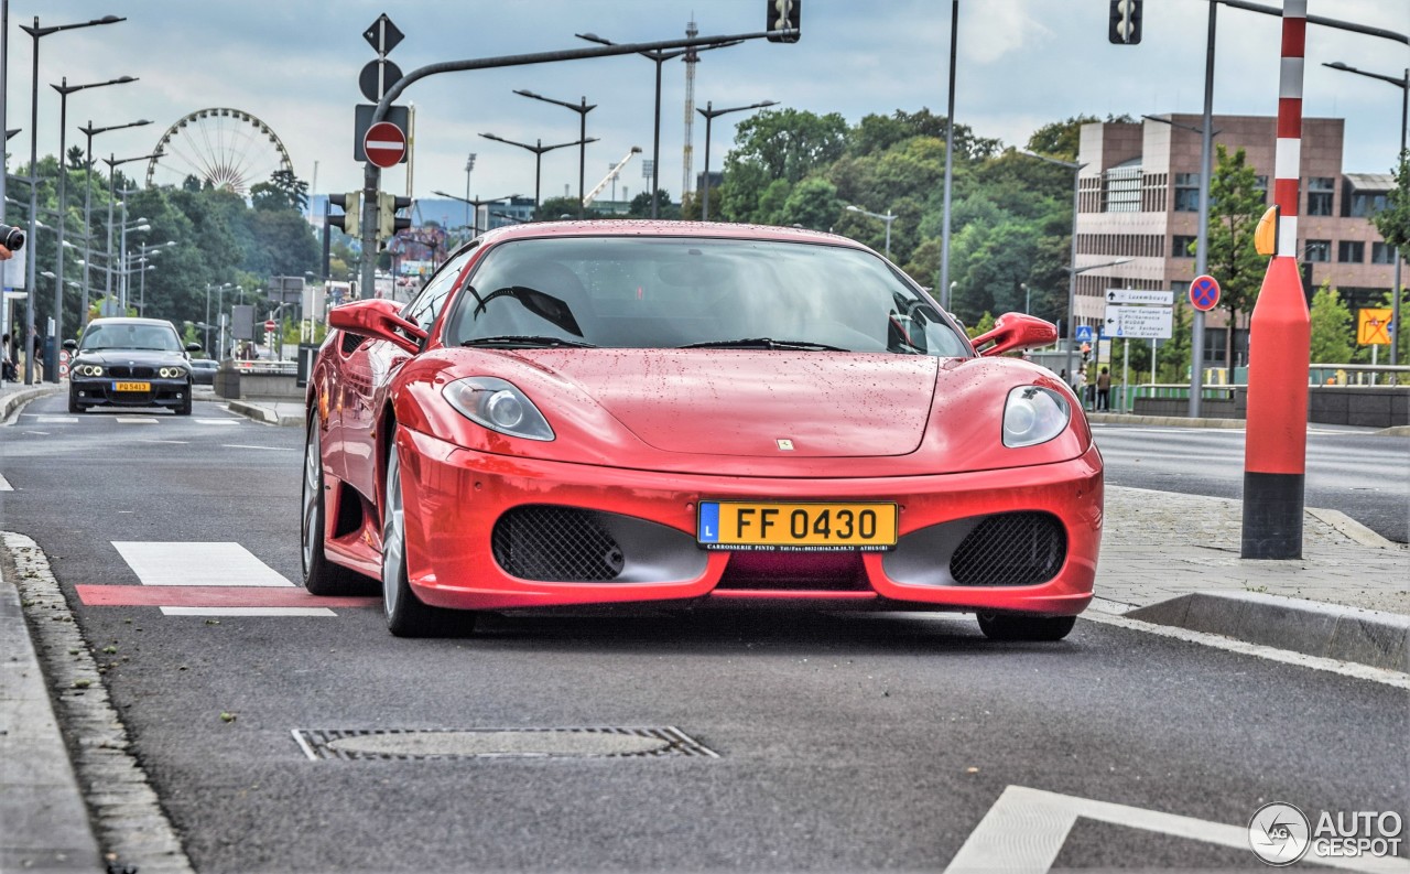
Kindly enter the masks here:
<path id="1" fill-rule="evenodd" d="M 541 582 L 608 582 L 625 564 L 598 513 L 577 507 L 515 507 L 495 523 L 491 547 L 508 574 Z"/>

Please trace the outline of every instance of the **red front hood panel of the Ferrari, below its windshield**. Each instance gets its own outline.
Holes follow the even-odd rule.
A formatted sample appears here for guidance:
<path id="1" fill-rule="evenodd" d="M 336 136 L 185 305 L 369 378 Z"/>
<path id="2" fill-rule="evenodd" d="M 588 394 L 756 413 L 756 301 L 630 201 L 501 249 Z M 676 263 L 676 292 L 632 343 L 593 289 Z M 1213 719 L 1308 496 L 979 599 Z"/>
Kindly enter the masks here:
<path id="1" fill-rule="evenodd" d="M 653 448 L 774 458 L 914 453 L 925 437 L 939 369 L 939 359 L 925 355 L 795 351 L 523 357 L 578 386 Z"/>

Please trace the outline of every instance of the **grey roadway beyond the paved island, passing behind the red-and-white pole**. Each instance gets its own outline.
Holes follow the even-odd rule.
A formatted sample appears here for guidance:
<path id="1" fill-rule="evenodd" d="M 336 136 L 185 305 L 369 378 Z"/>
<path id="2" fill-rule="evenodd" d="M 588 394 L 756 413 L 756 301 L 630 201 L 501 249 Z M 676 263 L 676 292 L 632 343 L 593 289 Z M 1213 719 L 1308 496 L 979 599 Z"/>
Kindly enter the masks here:
<path id="1" fill-rule="evenodd" d="M 1110 485 L 1211 498 L 1244 495 L 1244 431 L 1093 426 Z M 1341 510 L 1396 543 L 1410 541 L 1410 437 L 1313 426 L 1304 503 Z"/>

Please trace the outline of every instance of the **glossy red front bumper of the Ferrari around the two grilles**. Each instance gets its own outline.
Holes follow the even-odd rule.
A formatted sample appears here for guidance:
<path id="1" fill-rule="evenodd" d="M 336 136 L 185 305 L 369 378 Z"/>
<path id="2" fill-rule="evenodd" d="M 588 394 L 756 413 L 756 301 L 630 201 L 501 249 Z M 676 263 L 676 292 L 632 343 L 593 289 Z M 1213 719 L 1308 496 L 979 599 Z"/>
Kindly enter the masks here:
<path id="1" fill-rule="evenodd" d="M 1038 467 L 931 476 L 788 479 L 677 475 L 477 453 L 400 429 L 407 575 L 429 605 L 513 609 L 651 601 L 787 601 L 828 606 L 1076 615 L 1091 601 L 1101 541 L 1103 478 L 1096 447 Z M 888 553 L 702 551 L 701 499 L 885 500 L 900 513 Z M 633 544 L 653 553 L 595 582 L 526 579 L 508 572 L 496 523 L 529 506 L 612 515 L 625 529 L 658 530 Z M 959 585 L 939 567 L 974 519 L 1042 515 L 1065 533 L 1056 572 L 1031 585 Z M 967 527 L 966 527 L 967 526 Z M 948 543 L 948 546 L 945 546 Z M 502 544 L 501 544 L 502 547 Z M 673 553 L 674 550 L 674 553 Z M 938 555 L 926 568 L 926 550 Z M 615 557 L 620 558 L 620 557 Z M 625 581 L 623 581 L 625 579 Z"/>

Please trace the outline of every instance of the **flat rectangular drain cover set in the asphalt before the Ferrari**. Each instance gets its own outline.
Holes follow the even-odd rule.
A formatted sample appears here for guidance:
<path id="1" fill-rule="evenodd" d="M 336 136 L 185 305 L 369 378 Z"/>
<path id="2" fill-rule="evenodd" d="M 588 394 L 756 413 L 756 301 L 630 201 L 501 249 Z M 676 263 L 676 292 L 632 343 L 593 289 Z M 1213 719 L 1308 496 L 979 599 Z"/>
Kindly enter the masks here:
<path id="1" fill-rule="evenodd" d="M 293 729 L 303 754 L 343 760 L 657 758 L 719 753 L 675 726 L 580 729 Z"/>

